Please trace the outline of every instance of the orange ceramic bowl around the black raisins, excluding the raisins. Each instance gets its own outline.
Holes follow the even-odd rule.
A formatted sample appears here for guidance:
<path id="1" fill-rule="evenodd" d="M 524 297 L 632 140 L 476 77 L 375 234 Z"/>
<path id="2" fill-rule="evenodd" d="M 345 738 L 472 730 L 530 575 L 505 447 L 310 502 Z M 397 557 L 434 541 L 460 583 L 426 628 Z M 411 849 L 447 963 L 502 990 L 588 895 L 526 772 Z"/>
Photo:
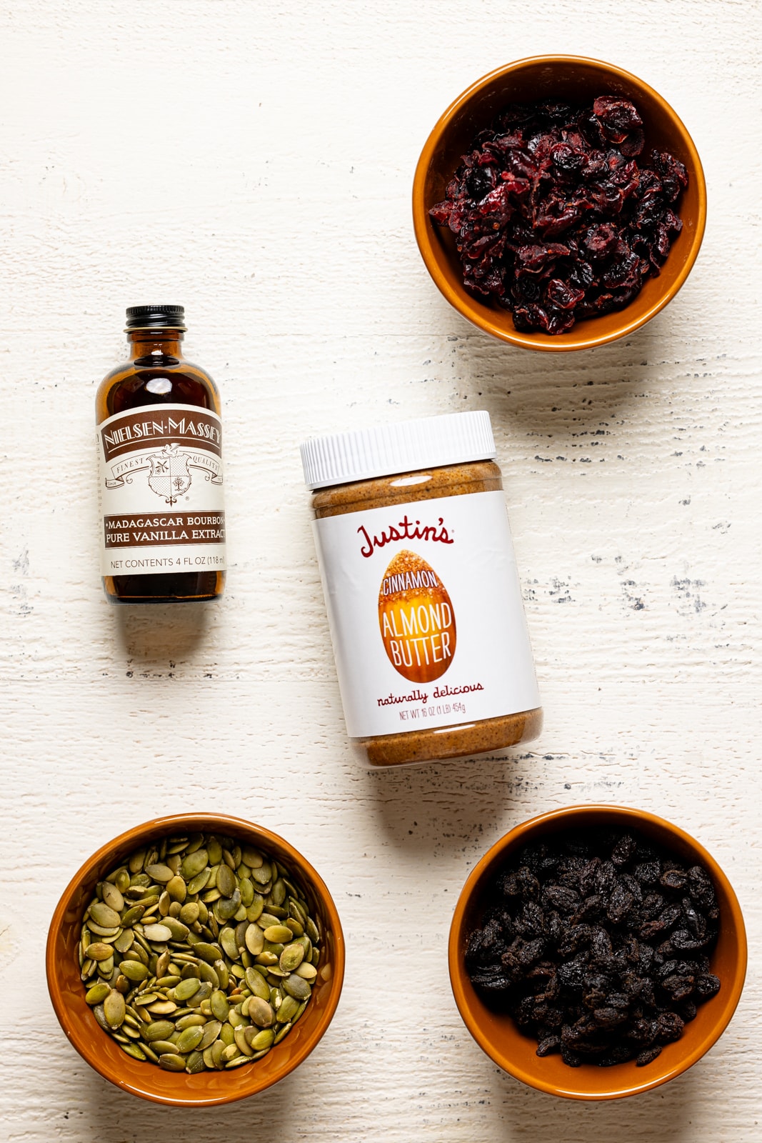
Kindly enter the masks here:
<path id="1" fill-rule="evenodd" d="M 637 830 L 692 864 L 701 864 L 714 882 L 720 905 L 720 936 L 711 953 L 720 991 L 699 1006 L 696 1020 L 682 1037 L 667 1044 L 644 1068 L 634 1062 L 597 1068 L 570 1068 L 559 1055 L 540 1058 L 537 1041 L 518 1030 L 507 1015 L 497 1015 L 472 986 L 464 954 L 468 934 L 479 926 L 488 900 L 488 885 L 506 861 L 528 841 L 538 841 L 570 828 L 613 825 Z M 746 975 L 746 930 L 736 894 L 715 860 L 688 833 L 644 810 L 620 806 L 572 806 L 555 809 L 518 825 L 484 854 L 463 887 L 449 942 L 450 982 L 464 1023 L 490 1060 L 530 1087 L 570 1100 L 616 1100 L 666 1084 L 687 1071 L 722 1036 L 736 1010 Z"/>

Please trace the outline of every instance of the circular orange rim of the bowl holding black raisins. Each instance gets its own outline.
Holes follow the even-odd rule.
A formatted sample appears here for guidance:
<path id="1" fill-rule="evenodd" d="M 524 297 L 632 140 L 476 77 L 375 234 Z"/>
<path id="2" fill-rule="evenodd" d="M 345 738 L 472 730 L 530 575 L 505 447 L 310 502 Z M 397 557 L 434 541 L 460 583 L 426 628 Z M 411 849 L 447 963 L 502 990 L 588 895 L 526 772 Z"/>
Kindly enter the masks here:
<path id="1" fill-rule="evenodd" d="M 732 918 L 731 924 L 736 929 L 739 950 L 735 974 L 732 980 L 727 984 L 724 1006 L 719 1015 L 719 1018 L 697 1047 L 683 1056 L 666 1074 L 661 1074 L 652 1079 L 644 1077 L 642 1082 L 633 1084 L 626 1089 L 611 1092 L 566 1090 L 558 1084 L 550 1082 L 537 1074 L 526 1071 L 521 1065 L 515 1064 L 513 1061 L 507 1060 L 504 1056 L 498 1058 L 498 1054 L 494 1049 L 489 1038 L 483 1033 L 480 1025 L 471 1018 L 463 985 L 463 975 L 465 974 L 460 969 L 459 965 L 463 922 L 466 909 L 471 902 L 472 894 L 476 888 L 479 880 L 487 872 L 487 870 L 494 865 L 494 863 L 496 863 L 497 860 L 506 853 L 506 850 L 510 848 L 515 849 L 516 844 L 522 839 L 528 838 L 529 834 L 538 834 L 548 825 L 569 825 L 573 823 L 575 818 L 589 816 L 591 814 L 600 816 L 601 818 L 608 817 L 609 820 L 616 820 L 619 823 L 629 822 L 633 828 L 637 828 L 639 823 L 642 824 L 643 822 L 647 822 L 668 831 L 668 833 L 673 837 L 679 838 L 687 846 L 689 846 L 708 869 L 715 884 L 722 885 L 722 889 L 730 903 L 730 913 Z M 668 1080 L 674 1079 L 676 1076 L 681 1076 L 683 1072 L 688 1071 L 689 1068 L 691 1068 L 709 1050 L 711 1047 L 713 1047 L 714 1044 L 716 1044 L 730 1023 L 744 989 L 747 960 L 748 949 L 746 942 L 746 927 L 744 925 L 744 916 L 738 903 L 738 897 L 714 857 L 712 857 L 712 855 L 699 841 L 696 840 L 696 838 L 691 837 L 690 833 L 687 833 L 679 825 L 674 825 L 672 822 L 668 822 L 666 818 L 658 817 L 656 814 L 651 814 L 648 810 L 633 809 L 628 806 L 611 806 L 605 802 L 591 802 L 587 805 L 580 804 L 578 806 L 567 806 L 561 809 L 547 810 L 544 814 L 539 814 L 536 817 L 531 817 L 528 821 L 515 825 L 512 830 L 499 838 L 495 845 L 490 846 L 484 856 L 473 868 L 465 885 L 463 886 L 463 889 L 460 890 L 460 895 L 452 914 L 448 941 L 448 968 L 452 996 L 455 997 L 455 1002 L 460 1014 L 460 1018 L 482 1052 L 484 1052 L 486 1055 L 488 1055 L 489 1058 L 498 1065 L 498 1068 L 508 1072 L 508 1074 L 513 1076 L 515 1079 L 521 1080 L 522 1084 L 527 1084 L 528 1087 L 534 1087 L 537 1090 L 546 1092 L 551 1095 L 583 1101 L 618 1100 L 629 1095 L 637 1095 L 641 1092 L 660 1087 L 661 1084 L 666 1084 Z M 723 985 L 724 983 L 725 982 L 723 982 Z M 573 1069 L 570 1069 L 570 1071 L 573 1073 Z M 616 1071 L 616 1069 L 612 1069 L 612 1071 Z"/>

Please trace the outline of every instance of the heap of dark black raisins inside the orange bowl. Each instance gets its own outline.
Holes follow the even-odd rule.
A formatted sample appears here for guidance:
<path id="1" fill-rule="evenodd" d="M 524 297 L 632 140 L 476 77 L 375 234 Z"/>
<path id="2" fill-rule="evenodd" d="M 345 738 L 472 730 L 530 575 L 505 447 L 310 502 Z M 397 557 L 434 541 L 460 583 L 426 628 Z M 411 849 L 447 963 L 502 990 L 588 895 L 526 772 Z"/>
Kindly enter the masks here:
<path id="1" fill-rule="evenodd" d="M 644 893 L 661 873 L 661 892 Z M 492 889 L 466 968 L 540 1055 L 561 1050 L 575 1066 L 650 1060 L 720 988 L 706 953 L 717 932 L 712 882 L 637 836 L 597 830 L 528 846 Z"/>

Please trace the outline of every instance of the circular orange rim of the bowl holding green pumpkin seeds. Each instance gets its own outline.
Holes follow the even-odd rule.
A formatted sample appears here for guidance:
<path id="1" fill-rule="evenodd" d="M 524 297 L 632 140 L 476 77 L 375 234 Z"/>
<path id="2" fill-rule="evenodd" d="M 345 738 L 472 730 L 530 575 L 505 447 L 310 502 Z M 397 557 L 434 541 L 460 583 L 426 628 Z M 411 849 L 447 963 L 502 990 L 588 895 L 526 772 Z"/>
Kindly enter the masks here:
<path id="1" fill-rule="evenodd" d="M 297 865 L 300 877 L 305 881 L 308 881 L 308 887 L 314 892 L 315 896 L 320 898 L 320 902 L 329 917 L 334 938 L 334 973 L 330 980 L 330 992 L 326 1007 L 320 1014 L 320 1023 L 315 1028 L 315 1034 L 305 1039 L 296 1048 L 276 1078 L 271 1079 L 267 1084 L 262 1086 L 257 1086 L 256 1082 L 252 1082 L 250 1092 L 236 1090 L 230 1095 L 201 1095 L 199 1097 L 189 1097 L 185 1095 L 175 1098 L 146 1090 L 137 1084 L 127 1080 L 123 1076 L 118 1074 L 111 1069 L 110 1064 L 104 1065 L 102 1057 L 91 1049 L 87 1036 L 82 1034 L 81 1028 L 70 1018 L 66 1006 L 63 1004 L 62 988 L 58 981 L 57 972 L 58 956 L 56 953 L 56 940 L 64 920 L 64 914 L 82 881 L 101 861 L 107 858 L 110 854 L 113 854 L 117 849 L 123 849 L 126 846 L 137 846 L 141 841 L 147 840 L 150 837 L 161 837 L 168 831 L 175 831 L 178 826 L 185 828 L 189 831 L 191 829 L 203 829 L 216 833 L 224 832 L 230 833 L 232 837 L 243 837 L 246 834 L 249 837 L 256 836 L 258 839 L 257 844 L 260 844 L 264 849 L 267 848 L 268 844 L 275 848 L 284 848 L 289 853 L 289 856 L 292 856 L 294 863 Z M 137 1095 L 143 1100 L 149 1100 L 152 1103 L 175 1108 L 210 1108 L 219 1104 L 234 1103 L 238 1100 L 248 1098 L 249 1096 L 257 1095 L 259 1092 L 266 1090 L 268 1087 L 272 1087 L 284 1079 L 310 1055 L 328 1031 L 328 1026 L 334 1018 L 336 1008 L 338 1007 L 344 983 L 345 959 L 344 934 L 334 898 L 331 897 L 326 882 L 313 865 L 306 860 L 306 857 L 304 857 L 289 841 L 280 834 L 274 833 L 272 830 L 266 829 L 264 825 L 257 825 L 255 822 L 249 822 L 241 817 L 233 817 L 228 814 L 199 812 L 167 814 L 161 817 L 154 817 L 143 822 L 133 829 L 125 830 L 111 841 L 102 845 L 82 863 L 62 893 L 58 904 L 56 905 L 50 919 L 45 952 L 45 968 L 48 992 L 56 1017 L 58 1018 L 58 1023 L 61 1024 L 69 1042 L 77 1049 L 82 1060 L 85 1060 L 90 1068 L 97 1071 L 104 1079 L 109 1080 L 115 1087 L 121 1088 L 123 1092 L 129 1092 L 131 1095 Z M 252 1077 L 256 1080 L 256 1069 L 252 1070 Z"/>

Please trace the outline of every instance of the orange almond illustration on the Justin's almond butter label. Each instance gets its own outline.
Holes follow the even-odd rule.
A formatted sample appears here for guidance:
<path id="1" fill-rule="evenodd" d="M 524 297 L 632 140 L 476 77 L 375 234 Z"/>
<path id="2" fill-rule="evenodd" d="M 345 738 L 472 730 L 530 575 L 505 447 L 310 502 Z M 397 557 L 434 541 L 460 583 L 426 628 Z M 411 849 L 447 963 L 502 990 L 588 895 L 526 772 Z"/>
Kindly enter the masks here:
<path id="1" fill-rule="evenodd" d="M 378 623 L 388 661 L 410 682 L 432 682 L 455 655 L 455 612 L 447 588 L 416 552 L 398 552 L 384 572 Z"/>

